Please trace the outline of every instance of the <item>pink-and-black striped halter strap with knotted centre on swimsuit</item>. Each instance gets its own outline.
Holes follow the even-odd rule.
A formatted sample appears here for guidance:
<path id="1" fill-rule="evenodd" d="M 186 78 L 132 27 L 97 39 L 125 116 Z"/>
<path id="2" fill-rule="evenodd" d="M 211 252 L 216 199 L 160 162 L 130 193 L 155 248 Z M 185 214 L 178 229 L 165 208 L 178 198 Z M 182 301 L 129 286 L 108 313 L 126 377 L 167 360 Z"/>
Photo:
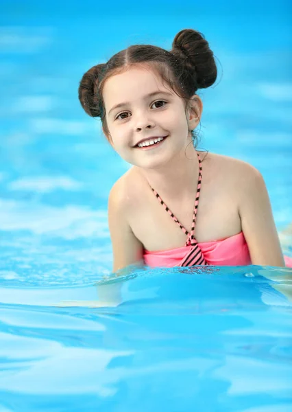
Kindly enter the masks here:
<path id="1" fill-rule="evenodd" d="M 201 158 L 199 157 L 199 153 L 197 153 L 197 157 L 199 160 L 199 178 L 197 180 L 197 194 L 195 196 L 195 206 L 194 206 L 194 213 L 193 213 L 193 222 L 192 222 L 192 227 L 191 227 L 191 233 L 189 233 L 184 226 L 180 223 L 178 218 L 174 216 L 172 211 L 165 205 L 164 201 L 162 201 L 162 198 L 160 198 L 159 194 L 151 187 L 152 191 L 154 192 L 156 198 L 158 198 L 158 201 L 160 201 L 161 205 L 165 207 L 165 210 L 169 213 L 171 218 L 179 225 L 180 229 L 187 235 L 186 238 L 186 243 L 184 246 L 191 246 L 191 250 L 188 251 L 186 256 L 183 258 L 182 262 L 180 262 L 180 266 L 195 266 L 197 264 L 202 264 L 206 265 L 208 264 L 204 258 L 204 255 L 199 248 L 199 245 L 197 244 L 197 240 L 195 238 L 195 222 L 197 220 L 197 207 L 199 205 L 199 194 L 201 192 L 201 185 L 202 185 L 202 161 Z"/>

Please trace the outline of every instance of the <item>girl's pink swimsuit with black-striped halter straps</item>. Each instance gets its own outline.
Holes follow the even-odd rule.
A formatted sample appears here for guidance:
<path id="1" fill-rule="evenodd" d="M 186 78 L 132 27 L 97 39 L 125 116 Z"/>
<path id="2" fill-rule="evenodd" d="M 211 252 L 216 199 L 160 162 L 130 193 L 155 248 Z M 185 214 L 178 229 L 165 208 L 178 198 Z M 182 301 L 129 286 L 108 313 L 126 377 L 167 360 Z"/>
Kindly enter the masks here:
<path id="1" fill-rule="evenodd" d="M 193 222 L 191 233 L 189 233 L 173 215 L 171 210 L 165 205 L 159 194 L 154 190 L 154 194 L 160 201 L 161 205 L 169 213 L 171 218 L 180 226 L 180 229 L 187 235 L 186 243 L 183 247 L 170 249 L 167 251 L 150 252 L 144 250 L 144 261 L 150 267 L 173 267 L 173 266 L 194 266 L 213 265 L 213 266 L 245 266 L 252 264 L 250 252 L 243 232 L 237 233 L 230 238 L 222 240 L 212 240 L 211 242 L 198 243 L 195 239 L 195 222 L 197 218 L 197 207 L 199 205 L 199 194 L 202 185 L 202 161 L 199 159 L 199 179 L 197 182 L 197 194 L 195 198 L 195 207 L 193 213 Z M 292 267 L 292 258 L 284 257 L 285 264 Z"/>

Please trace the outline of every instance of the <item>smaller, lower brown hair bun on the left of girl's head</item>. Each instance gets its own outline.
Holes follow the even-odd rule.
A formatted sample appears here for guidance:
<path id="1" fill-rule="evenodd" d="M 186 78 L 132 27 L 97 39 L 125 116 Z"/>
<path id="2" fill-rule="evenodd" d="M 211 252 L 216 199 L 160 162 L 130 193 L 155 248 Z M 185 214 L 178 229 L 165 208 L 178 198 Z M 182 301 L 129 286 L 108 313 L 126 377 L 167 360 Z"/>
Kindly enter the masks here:
<path id="1" fill-rule="evenodd" d="M 78 97 L 84 111 L 91 117 L 100 117 L 101 111 L 99 108 L 98 86 L 99 78 L 104 64 L 91 67 L 80 81 L 78 89 Z"/>

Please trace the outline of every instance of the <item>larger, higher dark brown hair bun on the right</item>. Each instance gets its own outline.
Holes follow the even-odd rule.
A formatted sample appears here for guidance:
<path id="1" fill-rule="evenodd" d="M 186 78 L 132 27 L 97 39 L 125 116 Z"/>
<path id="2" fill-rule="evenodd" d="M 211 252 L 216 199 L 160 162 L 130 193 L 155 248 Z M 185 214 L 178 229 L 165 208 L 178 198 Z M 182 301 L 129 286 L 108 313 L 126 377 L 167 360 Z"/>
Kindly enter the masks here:
<path id="1" fill-rule="evenodd" d="M 215 83 L 217 67 L 214 55 L 202 33 L 182 30 L 175 36 L 171 52 L 182 60 L 189 76 L 193 76 L 197 85 L 195 89 L 205 89 Z"/>

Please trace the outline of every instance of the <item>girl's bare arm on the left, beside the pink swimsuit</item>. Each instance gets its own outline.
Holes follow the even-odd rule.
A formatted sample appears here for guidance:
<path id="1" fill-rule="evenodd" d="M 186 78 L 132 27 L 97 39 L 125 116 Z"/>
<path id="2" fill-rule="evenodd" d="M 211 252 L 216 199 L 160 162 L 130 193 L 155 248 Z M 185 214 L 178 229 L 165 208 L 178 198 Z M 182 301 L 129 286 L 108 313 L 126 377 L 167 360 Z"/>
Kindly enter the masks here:
<path id="1" fill-rule="evenodd" d="M 123 193 L 121 181 L 110 191 L 108 199 L 108 225 L 112 240 L 114 258 L 113 271 L 119 271 L 130 264 L 143 265 L 143 244 L 134 236 L 127 222 L 127 196 Z"/>

